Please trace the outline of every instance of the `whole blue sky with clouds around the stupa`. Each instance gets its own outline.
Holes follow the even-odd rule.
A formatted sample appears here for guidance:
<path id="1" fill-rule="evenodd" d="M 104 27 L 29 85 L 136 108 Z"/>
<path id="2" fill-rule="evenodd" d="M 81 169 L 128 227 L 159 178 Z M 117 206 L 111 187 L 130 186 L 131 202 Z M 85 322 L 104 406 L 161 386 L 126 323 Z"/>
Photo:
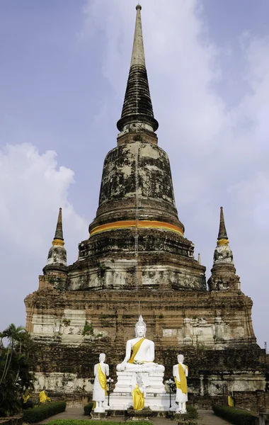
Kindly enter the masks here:
<path id="1" fill-rule="evenodd" d="M 219 207 L 268 341 L 269 2 L 141 0 L 159 146 L 207 279 Z M 116 146 L 136 0 L 0 1 L 0 330 L 25 324 L 62 207 L 68 263 Z"/>

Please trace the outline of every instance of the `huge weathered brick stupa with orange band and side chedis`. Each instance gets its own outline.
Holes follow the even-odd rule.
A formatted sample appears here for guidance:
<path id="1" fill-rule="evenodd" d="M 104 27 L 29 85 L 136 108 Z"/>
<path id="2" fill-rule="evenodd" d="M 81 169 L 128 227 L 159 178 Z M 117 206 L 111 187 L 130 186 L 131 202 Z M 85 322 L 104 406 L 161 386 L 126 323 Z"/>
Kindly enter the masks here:
<path id="1" fill-rule="evenodd" d="M 38 343 L 36 390 L 45 385 L 76 402 L 88 397 L 99 353 L 115 376 L 142 314 L 166 378 L 184 354 L 190 399 L 199 406 L 232 392 L 237 405 L 265 409 L 268 359 L 256 344 L 252 301 L 241 292 L 223 210 L 208 289 L 205 266 L 178 219 L 168 156 L 156 136 L 139 5 L 117 126 L 78 260 L 67 265 L 60 210 L 39 288 L 25 298 L 27 330 Z"/>

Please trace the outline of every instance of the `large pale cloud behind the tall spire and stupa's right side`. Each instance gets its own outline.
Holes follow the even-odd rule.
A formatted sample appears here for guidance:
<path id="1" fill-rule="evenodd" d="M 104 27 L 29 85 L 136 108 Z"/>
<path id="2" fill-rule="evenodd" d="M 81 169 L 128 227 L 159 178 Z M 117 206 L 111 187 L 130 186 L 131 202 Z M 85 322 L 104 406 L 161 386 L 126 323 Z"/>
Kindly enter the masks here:
<path id="1" fill-rule="evenodd" d="M 91 0 L 84 10 L 84 30 L 91 28 L 88 37 L 93 38 L 98 28 L 104 38 L 103 77 L 115 91 L 110 103 L 119 111 L 130 66 L 135 4 L 132 8 L 130 1 Z M 235 265 L 242 290 L 254 300 L 261 342 L 266 320 L 258 312 L 269 298 L 261 261 L 269 256 L 269 40 L 239 34 L 241 51 L 229 45 L 229 55 L 224 55 L 217 40 L 210 39 L 210 23 L 198 0 L 170 0 L 169 7 L 149 0 L 142 4 L 142 25 L 159 145 L 171 159 L 186 236 L 202 254 L 209 278 L 219 206 L 224 205 Z M 241 97 L 236 102 L 221 90 L 223 64 L 231 64 L 231 56 L 241 73 Z"/>

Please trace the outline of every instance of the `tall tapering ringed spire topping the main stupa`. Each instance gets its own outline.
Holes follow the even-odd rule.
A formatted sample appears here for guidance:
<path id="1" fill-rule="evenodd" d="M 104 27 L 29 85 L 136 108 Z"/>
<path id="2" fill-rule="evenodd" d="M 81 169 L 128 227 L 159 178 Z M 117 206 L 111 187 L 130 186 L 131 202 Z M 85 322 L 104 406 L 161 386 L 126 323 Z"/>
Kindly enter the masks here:
<path id="1" fill-rule="evenodd" d="M 130 72 L 122 115 L 120 120 L 118 120 L 117 127 L 120 132 L 140 131 L 142 129 L 154 132 L 159 127 L 159 124 L 154 118 L 149 93 L 142 35 L 141 5 L 137 4 L 136 9 L 137 18 Z"/>

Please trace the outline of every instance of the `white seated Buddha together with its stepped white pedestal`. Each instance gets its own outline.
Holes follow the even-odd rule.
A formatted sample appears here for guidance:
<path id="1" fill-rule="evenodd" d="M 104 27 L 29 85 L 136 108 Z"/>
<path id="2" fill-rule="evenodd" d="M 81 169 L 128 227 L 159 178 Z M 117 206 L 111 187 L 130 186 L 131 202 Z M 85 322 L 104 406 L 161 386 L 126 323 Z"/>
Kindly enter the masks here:
<path id="1" fill-rule="evenodd" d="M 110 395 L 111 409 L 126 410 L 132 406 L 132 390 L 139 381 L 147 394 L 146 406 L 156 411 L 169 410 L 164 366 L 154 362 L 154 342 L 146 338 L 146 331 L 147 326 L 140 315 L 135 324 L 135 338 L 127 341 L 125 358 L 117 365 L 118 380 Z"/>

